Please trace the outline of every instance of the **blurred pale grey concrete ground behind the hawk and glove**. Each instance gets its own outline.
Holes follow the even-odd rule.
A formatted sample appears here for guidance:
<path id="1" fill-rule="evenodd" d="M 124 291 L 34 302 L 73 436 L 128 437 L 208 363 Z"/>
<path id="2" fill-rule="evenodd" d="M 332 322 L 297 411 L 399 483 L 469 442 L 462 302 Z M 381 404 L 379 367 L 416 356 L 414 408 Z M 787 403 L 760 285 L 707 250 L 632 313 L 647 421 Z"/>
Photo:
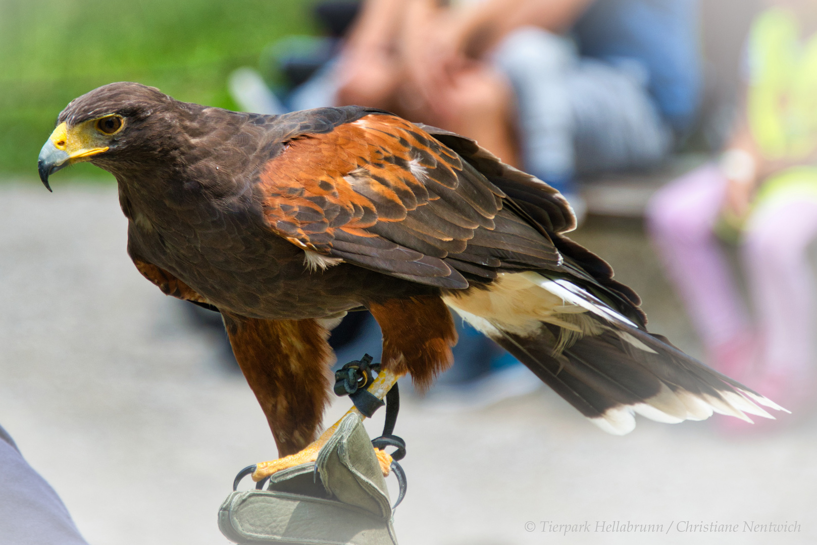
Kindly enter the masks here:
<path id="1" fill-rule="evenodd" d="M 90 543 L 226 543 L 233 476 L 275 457 L 261 410 L 213 333 L 128 260 L 114 188 L 52 185 L 0 186 L 0 422 Z M 575 238 L 641 292 L 656 331 L 698 350 L 637 226 Z M 405 396 L 395 526 L 403 545 L 815 543 L 815 429 L 728 439 L 642 419 L 614 437 L 543 388 L 482 409 Z M 745 531 L 786 521 L 798 531 Z"/>

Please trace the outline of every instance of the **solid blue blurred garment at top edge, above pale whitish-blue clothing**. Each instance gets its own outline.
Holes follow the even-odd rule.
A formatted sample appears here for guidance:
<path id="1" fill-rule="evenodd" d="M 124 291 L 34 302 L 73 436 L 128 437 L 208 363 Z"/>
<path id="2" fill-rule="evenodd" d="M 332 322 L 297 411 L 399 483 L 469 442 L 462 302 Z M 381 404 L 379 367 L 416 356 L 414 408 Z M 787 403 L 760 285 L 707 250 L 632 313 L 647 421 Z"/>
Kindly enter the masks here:
<path id="1" fill-rule="evenodd" d="M 694 121 L 701 89 L 696 0 L 597 0 L 573 32 L 582 56 L 640 63 L 674 129 Z"/>

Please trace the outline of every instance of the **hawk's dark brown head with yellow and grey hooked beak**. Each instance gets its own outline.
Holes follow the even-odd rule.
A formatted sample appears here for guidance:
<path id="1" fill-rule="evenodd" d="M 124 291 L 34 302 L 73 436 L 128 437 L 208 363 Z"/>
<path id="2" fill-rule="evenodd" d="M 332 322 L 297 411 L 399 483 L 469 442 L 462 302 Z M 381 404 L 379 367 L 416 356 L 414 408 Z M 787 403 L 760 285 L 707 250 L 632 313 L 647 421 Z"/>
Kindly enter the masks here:
<path id="1" fill-rule="evenodd" d="M 155 153 L 169 136 L 156 125 L 165 125 L 168 115 L 183 104 L 154 87 L 127 82 L 110 83 L 74 99 L 40 151 L 42 183 L 50 191 L 48 176 L 74 163 L 93 161 L 111 170 L 126 156 L 132 163 L 140 154 Z"/>

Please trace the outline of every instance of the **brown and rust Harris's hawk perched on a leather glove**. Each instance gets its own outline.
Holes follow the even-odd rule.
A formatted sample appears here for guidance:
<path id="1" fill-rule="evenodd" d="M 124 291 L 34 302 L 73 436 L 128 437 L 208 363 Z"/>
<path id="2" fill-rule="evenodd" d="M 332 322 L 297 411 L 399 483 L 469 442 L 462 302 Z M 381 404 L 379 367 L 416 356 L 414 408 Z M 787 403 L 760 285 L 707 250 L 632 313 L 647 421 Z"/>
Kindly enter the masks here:
<path id="1" fill-rule="evenodd" d="M 649 333 L 636 293 L 565 237 L 565 199 L 465 137 L 358 106 L 236 113 L 137 83 L 80 96 L 57 123 L 43 183 L 81 161 L 114 174 L 136 268 L 221 312 L 287 456 L 256 480 L 314 459 L 328 333 L 361 308 L 382 328 L 380 398 L 452 363 L 451 309 L 614 434 L 636 413 L 780 409 Z"/>

